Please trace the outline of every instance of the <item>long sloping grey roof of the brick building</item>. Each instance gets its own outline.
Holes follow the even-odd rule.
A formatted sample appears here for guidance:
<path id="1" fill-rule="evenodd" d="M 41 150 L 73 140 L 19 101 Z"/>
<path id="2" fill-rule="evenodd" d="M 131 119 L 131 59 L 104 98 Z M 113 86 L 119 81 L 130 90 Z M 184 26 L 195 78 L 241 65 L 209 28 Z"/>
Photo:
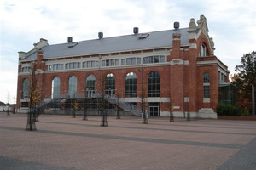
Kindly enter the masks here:
<path id="1" fill-rule="evenodd" d="M 69 56 L 80 56 L 90 54 L 108 54 L 116 52 L 125 52 L 132 50 L 142 50 L 151 48 L 166 48 L 172 47 L 172 34 L 181 34 L 181 45 L 189 44 L 188 28 L 167 30 L 167 31 L 154 31 L 148 32 L 149 36 L 140 39 L 141 33 L 119 36 L 119 37 L 106 37 L 102 39 L 87 40 L 78 42 L 76 45 L 73 43 L 61 43 L 55 45 L 44 46 L 44 59 L 55 59 Z M 31 54 L 23 60 L 37 59 L 37 54 Z"/>

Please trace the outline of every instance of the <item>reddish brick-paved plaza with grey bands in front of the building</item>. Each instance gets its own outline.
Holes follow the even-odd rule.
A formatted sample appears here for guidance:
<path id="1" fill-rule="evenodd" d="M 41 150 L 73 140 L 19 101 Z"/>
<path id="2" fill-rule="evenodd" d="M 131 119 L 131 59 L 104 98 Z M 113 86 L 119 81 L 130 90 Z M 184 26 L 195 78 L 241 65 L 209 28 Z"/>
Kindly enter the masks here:
<path id="1" fill-rule="evenodd" d="M 256 169 L 256 122 L 0 113 L 0 169 Z"/>

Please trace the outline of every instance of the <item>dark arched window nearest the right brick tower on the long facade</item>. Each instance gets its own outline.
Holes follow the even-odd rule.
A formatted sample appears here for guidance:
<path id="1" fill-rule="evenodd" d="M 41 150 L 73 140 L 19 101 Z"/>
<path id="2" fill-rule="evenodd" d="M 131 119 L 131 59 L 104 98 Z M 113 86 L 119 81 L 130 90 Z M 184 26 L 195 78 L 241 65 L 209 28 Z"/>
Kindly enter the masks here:
<path id="1" fill-rule="evenodd" d="M 148 97 L 160 97 L 160 75 L 156 71 L 148 74 Z"/>

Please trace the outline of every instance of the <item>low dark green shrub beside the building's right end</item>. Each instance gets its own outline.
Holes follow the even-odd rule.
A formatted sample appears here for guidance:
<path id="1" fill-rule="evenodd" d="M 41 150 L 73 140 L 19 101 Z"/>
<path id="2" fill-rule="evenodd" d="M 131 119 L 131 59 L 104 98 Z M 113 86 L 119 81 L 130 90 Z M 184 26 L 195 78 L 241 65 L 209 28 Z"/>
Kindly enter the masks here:
<path id="1" fill-rule="evenodd" d="M 234 105 L 220 102 L 216 108 L 218 116 L 239 116 L 240 109 Z"/>

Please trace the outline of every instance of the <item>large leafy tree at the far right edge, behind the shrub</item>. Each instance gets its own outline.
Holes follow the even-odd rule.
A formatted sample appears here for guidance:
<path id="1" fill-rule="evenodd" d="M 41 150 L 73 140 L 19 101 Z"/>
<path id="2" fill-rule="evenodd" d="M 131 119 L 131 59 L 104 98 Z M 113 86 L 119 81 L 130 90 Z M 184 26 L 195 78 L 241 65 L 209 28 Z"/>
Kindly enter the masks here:
<path id="1" fill-rule="evenodd" d="M 239 105 L 242 110 L 245 108 L 252 109 L 252 87 L 256 86 L 256 51 L 244 54 L 241 57 L 240 65 L 236 65 L 235 71 L 238 73 L 233 75 L 231 80 L 232 83 L 239 88 L 237 105 Z"/>

